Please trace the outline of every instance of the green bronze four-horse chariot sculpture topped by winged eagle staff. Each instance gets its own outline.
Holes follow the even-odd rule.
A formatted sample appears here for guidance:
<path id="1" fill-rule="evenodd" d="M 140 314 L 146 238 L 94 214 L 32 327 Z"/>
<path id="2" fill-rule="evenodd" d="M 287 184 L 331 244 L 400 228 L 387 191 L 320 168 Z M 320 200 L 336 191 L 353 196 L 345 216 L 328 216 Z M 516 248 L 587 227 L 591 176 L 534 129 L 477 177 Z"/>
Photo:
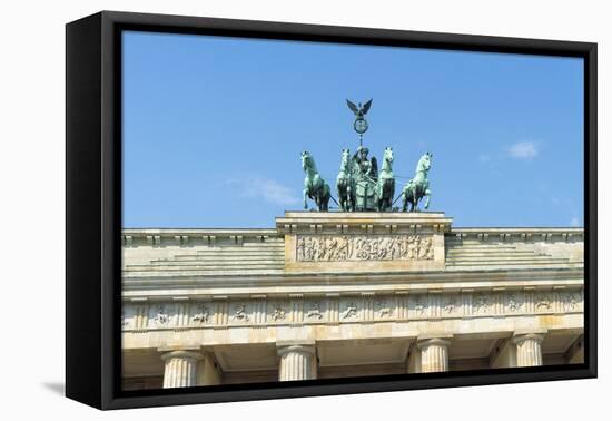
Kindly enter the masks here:
<path id="1" fill-rule="evenodd" d="M 417 164 L 416 174 L 394 200 L 395 176 L 393 174 L 393 148 L 386 147 L 383 164 L 378 170 L 376 157 L 368 158 L 369 150 L 363 145 L 363 135 L 369 125 L 365 116 L 372 107 L 372 99 L 363 106 L 346 100 L 348 108 L 355 115 L 354 130 L 359 135 L 359 147 L 351 156 L 349 149 L 343 149 L 340 169 L 336 178 L 338 200 L 332 196 L 329 185 L 320 177 L 316 169 L 314 157 L 302 153 L 302 167 L 306 173 L 304 179 L 304 208 L 308 208 L 307 199 L 315 202 L 317 210 L 328 210 L 329 199 L 334 200 L 343 212 L 394 212 L 393 205 L 403 198 L 403 212 L 418 212 L 418 202 L 426 196 L 425 208 L 430 205 L 431 190 L 427 172 L 431 168 L 432 154 L 426 153 Z"/>

